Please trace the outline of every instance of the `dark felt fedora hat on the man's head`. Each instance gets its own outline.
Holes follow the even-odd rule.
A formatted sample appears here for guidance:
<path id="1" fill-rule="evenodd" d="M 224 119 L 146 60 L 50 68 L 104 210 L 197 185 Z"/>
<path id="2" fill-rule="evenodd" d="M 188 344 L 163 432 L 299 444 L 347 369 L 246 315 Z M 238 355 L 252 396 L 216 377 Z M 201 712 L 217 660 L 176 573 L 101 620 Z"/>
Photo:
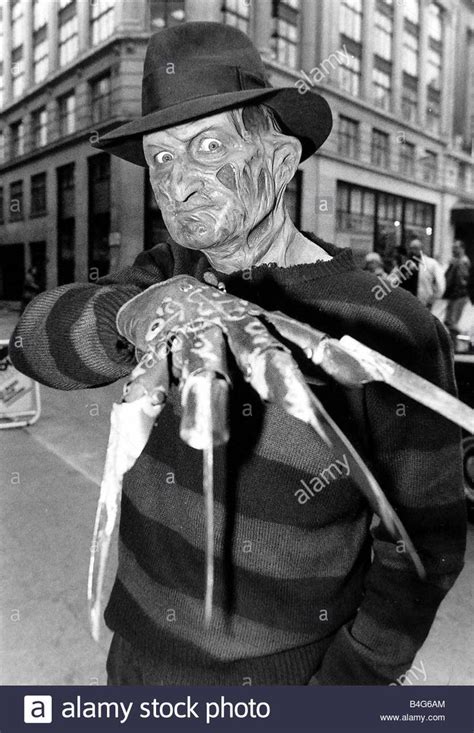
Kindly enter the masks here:
<path id="1" fill-rule="evenodd" d="M 142 117 L 93 146 L 146 167 L 144 134 L 250 103 L 265 103 L 275 112 L 283 131 L 300 140 L 302 160 L 331 132 L 328 103 L 313 91 L 272 87 L 260 54 L 244 33 L 221 23 L 183 23 L 150 38 Z"/>

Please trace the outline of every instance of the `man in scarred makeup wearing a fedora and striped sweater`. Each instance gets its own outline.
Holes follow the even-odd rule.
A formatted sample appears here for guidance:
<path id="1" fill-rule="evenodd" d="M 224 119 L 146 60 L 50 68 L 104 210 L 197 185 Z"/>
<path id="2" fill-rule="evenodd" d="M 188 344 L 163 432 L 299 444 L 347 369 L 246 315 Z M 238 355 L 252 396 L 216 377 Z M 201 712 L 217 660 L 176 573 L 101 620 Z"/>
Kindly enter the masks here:
<path id="1" fill-rule="evenodd" d="M 98 283 L 36 298 L 11 340 L 15 366 L 59 389 L 113 382 L 168 323 L 169 303 L 206 283 L 209 297 L 226 291 L 229 319 L 244 298 L 249 309 L 349 334 L 454 393 L 442 324 L 400 289 L 377 301 L 374 276 L 356 268 L 350 250 L 298 231 L 288 216 L 285 188 L 330 129 L 327 103 L 271 87 L 235 28 L 188 23 L 153 36 L 143 116 L 97 147 L 148 167 L 170 239 Z M 109 682 L 395 682 L 463 564 L 458 428 L 385 385 L 354 391 L 314 380 L 405 524 L 422 580 L 383 526 L 370 530 L 346 454 L 278 404 L 262 404 L 235 361 L 230 370 L 230 439 L 214 456 L 212 617 L 203 625 L 201 455 L 179 437 L 172 373 L 166 405 L 124 478 L 105 613 L 114 631 Z"/>

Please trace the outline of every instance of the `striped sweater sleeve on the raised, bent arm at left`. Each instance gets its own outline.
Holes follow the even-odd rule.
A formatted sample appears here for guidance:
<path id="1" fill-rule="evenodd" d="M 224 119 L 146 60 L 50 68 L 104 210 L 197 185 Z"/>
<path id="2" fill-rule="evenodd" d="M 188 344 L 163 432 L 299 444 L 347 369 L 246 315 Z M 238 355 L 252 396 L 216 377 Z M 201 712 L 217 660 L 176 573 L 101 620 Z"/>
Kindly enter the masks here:
<path id="1" fill-rule="evenodd" d="M 13 365 L 56 389 L 99 387 L 126 376 L 135 356 L 117 332 L 117 312 L 130 298 L 171 275 L 172 257 L 163 244 L 97 283 L 73 283 L 41 293 L 11 336 Z"/>

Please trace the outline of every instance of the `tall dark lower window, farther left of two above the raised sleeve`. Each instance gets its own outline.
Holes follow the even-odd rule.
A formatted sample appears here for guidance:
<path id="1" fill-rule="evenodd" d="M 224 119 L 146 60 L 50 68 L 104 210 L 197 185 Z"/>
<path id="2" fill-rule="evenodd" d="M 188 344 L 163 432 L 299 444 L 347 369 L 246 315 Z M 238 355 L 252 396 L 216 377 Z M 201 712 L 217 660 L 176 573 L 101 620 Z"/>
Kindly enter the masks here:
<path id="1" fill-rule="evenodd" d="M 74 281 L 75 187 L 74 163 L 57 170 L 58 182 L 58 285 Z"/>

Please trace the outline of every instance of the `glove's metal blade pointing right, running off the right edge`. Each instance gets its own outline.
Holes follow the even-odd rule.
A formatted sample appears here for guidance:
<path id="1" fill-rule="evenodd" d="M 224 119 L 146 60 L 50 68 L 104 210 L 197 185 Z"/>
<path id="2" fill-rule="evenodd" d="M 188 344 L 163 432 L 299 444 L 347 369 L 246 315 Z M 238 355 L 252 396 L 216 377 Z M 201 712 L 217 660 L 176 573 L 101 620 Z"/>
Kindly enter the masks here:
<path id="1" fill-rule="evenodd" d="M 352 336 L 343 336 L 339 343 L 351 356 L 355 356 L 361 362 L 373 380 L 395 387 L 413 400 L 460 425 L 469 433 L 474 433 L 474 410 L 456 397 L 392 359 L 361 344 Z"/>

